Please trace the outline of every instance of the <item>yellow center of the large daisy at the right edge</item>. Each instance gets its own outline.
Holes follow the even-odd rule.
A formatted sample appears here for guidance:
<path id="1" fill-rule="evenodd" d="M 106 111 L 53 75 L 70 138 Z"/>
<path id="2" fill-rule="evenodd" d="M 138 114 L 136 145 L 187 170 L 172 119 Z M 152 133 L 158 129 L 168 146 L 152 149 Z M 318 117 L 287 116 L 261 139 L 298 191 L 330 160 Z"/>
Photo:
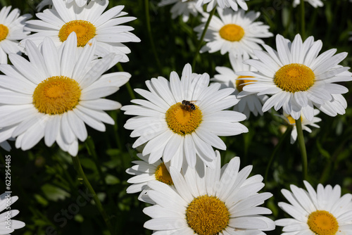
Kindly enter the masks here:
<path id="1" fill-rule="evenodd" d="M 291 63 L 277 70 L 274 82 L 277 87 L 284 91 L 306 91 L 313 86 L 314 72 L 306 65 Z"/>

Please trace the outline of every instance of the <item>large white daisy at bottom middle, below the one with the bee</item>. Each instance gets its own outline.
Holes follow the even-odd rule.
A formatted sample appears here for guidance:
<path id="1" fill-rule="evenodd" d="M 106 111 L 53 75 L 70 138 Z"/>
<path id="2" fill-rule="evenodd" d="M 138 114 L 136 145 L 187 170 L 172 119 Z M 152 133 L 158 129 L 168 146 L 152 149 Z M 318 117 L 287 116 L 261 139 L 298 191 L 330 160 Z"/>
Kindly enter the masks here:
<path id="1" fill-rule="evenodd" d="M 272 193 L 258 193 L 263 177 L 249 176 L 252 166 L 239 171 L 239 157 L 220 166 L 215 151 L 215 168 L 188 169 L 181 174 L 170 167 L 175 189 L 161 182 L 149 182 L 149 196 L 156 205 L 144 208 L 152 219 L 144 224 L 154 234 L 265 234 L 275 223 L 259 207 Z"/>

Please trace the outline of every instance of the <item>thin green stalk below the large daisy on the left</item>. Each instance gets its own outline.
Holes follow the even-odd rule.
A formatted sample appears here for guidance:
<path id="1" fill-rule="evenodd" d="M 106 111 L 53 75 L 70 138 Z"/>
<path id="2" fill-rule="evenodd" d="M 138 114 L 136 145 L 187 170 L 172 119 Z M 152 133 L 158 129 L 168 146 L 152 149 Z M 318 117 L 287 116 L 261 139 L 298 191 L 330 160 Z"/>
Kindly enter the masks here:
<path id="1" fill-rule="evenodd" d="M 110 234 L 113 234 L 113 226 L 110 222 L 110 219 L 108 218 L 108 214 L 103 208 L 103 205 L 101 205 L 101 202 L 99 201 L 98 196 L 96 196 L 96 193 L 92 187 L 92 185 L 89 183 L 89 180 L 87 179 L 86 175 L 84 174 L 84 171 L 82 169 L 82 165 L 80 163 L 80 158 L 78 156 L 72 157 L 73 160 L 73 165 L 75 166 L 75 170 L 77 170 L 78 176 L 83 180 L 84 185 L 87 187 L 90 193 L 93 195 L 94 202 L 96 204 L 96 207 L 98 208 L 99 212 L 103 216 L 103 219 L 106 223 L 106 226 L 108 227 L 108 230 L 110 231 Z"/>

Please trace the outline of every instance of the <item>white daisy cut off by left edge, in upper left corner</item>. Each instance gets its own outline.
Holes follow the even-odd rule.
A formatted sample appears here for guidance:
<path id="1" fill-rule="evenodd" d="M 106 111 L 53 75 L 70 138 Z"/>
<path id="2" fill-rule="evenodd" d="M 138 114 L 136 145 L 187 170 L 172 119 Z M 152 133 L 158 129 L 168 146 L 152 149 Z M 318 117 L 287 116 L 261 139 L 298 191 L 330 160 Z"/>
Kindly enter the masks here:
<path id="1" fill-rule="evenodd" d="M 30 14 L 20 15 L 18 8 L 4 6 L 0 11 L 0 64 L 7 63 L 9 53 L 20 54 L 18 40 L 22 40 L 30 34 L 23 29 L 25 21 L 32 17 Z"/>

